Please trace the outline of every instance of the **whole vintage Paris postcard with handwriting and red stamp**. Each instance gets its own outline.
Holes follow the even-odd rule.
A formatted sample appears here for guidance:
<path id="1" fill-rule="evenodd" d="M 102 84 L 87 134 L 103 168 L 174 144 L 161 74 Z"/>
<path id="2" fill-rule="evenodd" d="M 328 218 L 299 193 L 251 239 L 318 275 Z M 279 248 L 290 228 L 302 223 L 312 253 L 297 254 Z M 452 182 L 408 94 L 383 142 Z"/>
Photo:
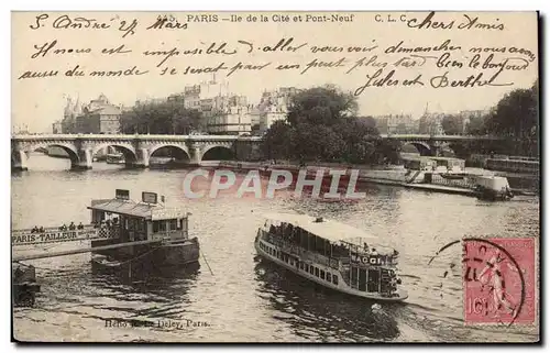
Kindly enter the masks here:
<path id="1" fill-rule="evenodd" d="M 539 342 L 536 12 L 12 12 L 16 342 Z"/>

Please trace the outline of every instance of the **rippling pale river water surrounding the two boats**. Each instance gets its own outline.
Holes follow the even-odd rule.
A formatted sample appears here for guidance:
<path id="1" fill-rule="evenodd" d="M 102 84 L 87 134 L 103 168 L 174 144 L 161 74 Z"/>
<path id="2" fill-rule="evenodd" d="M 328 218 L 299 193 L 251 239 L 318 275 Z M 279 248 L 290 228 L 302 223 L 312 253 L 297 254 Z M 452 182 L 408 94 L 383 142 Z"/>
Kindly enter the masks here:
<path id="1" fill-rule="evenodd" d="M 165 195 L 193 213 L 204 256 L 197 268 L 132 278 L 92 271 L 89 254 L 33 261 L 42 285 L 34 308 L 15 308 L 19 340 L 153 342 L 491 342 L 536 341 L 531 327 L 466 327 L 462 321 L 461 249 L 429 260 L 463 236 L 539 236 L 539 199 L 484 202 L 398 187 L 364 187 L 356 202 L 282 195 L 275 199 L 185 199 L 187 170 L 128 170 L 41 154 L 12 175 L 12 227 L 89 222 L 91 199 L 129 189 Z M 205 186 L 206 187 L 206 186 Z M 405 304 L 382 305 L 318 287 L 257 258 L 254 238 L 265 212 L 306 212 L 340 220 L 400 252 Z M 42 245 L 18 253 L 88 244 Z M 452 264 L 452 265 L 451 265 Z M 453 267 L 454 265 L 454 267 Z M 452 267 L 452 268 L 451 268 Z M 444 276 L 449 272 L 450 275 Z"/>

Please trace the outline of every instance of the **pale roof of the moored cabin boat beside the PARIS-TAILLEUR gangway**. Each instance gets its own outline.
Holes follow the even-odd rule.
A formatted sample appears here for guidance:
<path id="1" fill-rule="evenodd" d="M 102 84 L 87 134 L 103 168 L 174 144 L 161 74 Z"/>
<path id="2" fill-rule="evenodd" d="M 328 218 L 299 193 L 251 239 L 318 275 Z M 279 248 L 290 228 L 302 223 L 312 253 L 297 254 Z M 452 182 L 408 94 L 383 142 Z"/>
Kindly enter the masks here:
<path id="1" fill-rule="evenodd" d="M 179 209 L 165 208 L 160 205 L 138 203 L 122 199 L 92 200 L 88 209 L 153 221 L 187 217 L 187 213 Z"/>

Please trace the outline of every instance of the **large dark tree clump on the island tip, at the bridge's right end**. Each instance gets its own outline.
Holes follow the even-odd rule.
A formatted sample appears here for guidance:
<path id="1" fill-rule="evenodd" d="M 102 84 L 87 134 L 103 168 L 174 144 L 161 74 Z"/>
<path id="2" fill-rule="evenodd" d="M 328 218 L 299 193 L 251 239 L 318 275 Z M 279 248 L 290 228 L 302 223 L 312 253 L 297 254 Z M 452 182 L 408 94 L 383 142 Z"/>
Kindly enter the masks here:
<path id="1" fill-rule="evenodd" d="M 270 158 L 352 164 L 395 163 L 400 143 L 380 139 L 372 118 L 358 118 L 358 102 L 334 86 L 315 87 L 290 99 L 286 120 L 266 132 Z"/>

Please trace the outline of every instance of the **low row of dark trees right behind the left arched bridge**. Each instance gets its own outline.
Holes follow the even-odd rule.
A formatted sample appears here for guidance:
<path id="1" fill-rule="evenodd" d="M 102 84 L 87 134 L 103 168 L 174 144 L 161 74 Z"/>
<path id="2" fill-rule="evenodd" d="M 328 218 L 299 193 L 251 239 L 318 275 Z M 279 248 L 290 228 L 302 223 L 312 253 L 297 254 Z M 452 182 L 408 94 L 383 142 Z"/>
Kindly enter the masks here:
<path id="1" fill-rule="evenodd" d="M 201 112 L 185 108 L 183 101 L 136 104 L 120 122 L 122 133 L 188 134 L 206 128 Z"/>

